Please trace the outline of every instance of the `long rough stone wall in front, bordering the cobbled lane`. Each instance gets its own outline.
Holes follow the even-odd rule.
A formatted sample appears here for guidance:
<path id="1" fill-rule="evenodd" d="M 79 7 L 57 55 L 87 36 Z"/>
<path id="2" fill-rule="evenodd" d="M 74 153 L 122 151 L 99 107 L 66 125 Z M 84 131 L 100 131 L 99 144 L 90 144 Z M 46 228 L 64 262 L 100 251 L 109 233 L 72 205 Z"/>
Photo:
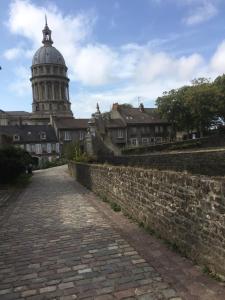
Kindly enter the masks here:
<path id="1" fill-rule="evenodd" d="M 225 276 L 225 181 L 181 172 L 70 163 L 87 188 Z"/>

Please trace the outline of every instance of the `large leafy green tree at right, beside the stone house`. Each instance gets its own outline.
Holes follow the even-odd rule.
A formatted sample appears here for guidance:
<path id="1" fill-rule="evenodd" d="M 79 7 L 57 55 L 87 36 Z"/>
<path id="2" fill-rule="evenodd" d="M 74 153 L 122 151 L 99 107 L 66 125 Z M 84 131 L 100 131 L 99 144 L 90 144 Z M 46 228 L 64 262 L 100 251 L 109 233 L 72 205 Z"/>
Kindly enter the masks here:
<path id="1" fill-rule="evenodd" d="M 172 122 L 175 129 L 200 137 L 225 121 L 225 75 L 213 82 L 198 78 L 190 86 L 164 92 L 156 105 L 160 115 Z"/>

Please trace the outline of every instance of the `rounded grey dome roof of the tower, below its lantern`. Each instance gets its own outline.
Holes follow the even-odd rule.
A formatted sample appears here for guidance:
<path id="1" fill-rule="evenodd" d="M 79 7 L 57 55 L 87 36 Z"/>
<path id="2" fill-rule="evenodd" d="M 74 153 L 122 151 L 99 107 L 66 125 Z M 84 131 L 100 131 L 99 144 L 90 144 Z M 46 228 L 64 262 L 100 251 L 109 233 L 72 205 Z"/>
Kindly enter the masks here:
<path id="1" fill-rule="evenodd" d="M 49 44 L 39 48 L 34 54 L 32 65 L 38 64 L 57 64 L 65 66 L 65 60 L 62 54 Z"/>

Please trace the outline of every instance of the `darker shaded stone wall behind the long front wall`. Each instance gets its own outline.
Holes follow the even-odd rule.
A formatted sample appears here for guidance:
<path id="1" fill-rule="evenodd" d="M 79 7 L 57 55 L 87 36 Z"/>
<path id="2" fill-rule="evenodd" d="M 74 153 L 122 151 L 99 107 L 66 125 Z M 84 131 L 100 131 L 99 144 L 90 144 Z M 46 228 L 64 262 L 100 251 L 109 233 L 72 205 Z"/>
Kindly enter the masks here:
<path id="1" fill-rule="evenodd" d="M 155 168 L 159 170 L 188 171 L 207 176 L 225 176 L 225 150 L 152 153 L 98 157 L 100 163 Z"/>

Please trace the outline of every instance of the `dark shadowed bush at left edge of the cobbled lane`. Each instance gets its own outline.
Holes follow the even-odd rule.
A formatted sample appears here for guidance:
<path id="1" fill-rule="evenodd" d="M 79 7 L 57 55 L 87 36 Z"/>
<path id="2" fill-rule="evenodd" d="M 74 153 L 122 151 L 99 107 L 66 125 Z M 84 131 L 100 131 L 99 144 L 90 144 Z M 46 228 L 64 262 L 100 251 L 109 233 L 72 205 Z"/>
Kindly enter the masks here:
<path id="1" fill-rule="evenodd" d="M 27 166 L 32 163 L 28 152 L 13 146 L 0 149 L 0 183 L 13 183 L 26 173 Z"/>

